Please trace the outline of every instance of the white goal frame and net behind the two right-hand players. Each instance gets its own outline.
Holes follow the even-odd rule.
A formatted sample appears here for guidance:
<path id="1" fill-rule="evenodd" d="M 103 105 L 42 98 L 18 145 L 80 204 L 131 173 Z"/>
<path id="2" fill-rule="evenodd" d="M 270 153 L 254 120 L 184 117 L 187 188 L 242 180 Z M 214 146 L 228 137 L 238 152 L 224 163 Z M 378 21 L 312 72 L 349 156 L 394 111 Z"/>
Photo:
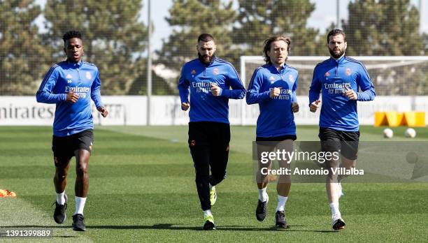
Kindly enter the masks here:
<path id="1" fill-rule="evenodd" d="M 369 72 L 376 89 L 376 96 L 407 96 L 411 98 L 411 110 L 418 107 L 418 96 L 428 96 L 428 56 L 359 56 Z M 287 65 L 299 71 L 297 96 L 308 96 L 315 66 L 329 59 L 327 56 L 290 56 Z M 262 56 L 241 56 L 241 80 L 248 86 L 252 73 L 264 65 Z M 241 124 L 247 124 L 248 108 L 245 101 L 241 105 Z"/>

